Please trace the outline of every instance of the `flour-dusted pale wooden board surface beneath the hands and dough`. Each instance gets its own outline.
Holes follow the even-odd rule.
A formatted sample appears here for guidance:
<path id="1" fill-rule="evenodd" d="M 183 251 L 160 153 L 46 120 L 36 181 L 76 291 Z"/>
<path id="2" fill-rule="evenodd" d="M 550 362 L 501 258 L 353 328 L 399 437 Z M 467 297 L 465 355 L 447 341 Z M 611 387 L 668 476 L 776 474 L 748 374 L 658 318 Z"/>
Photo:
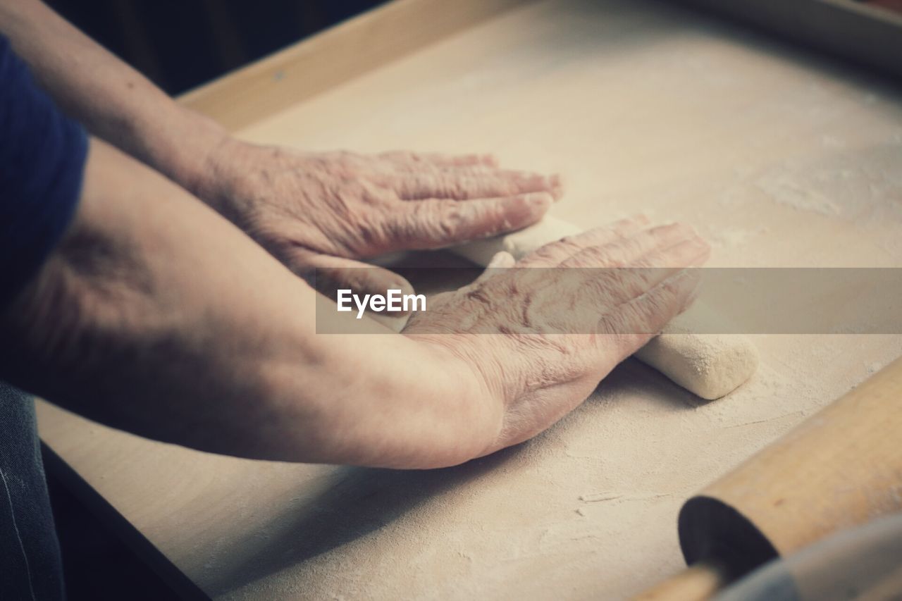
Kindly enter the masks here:
<path id="1" fill-rule="evenodd" d="M 337 52 L 340 78 L 302 89 L 252 67 L 188 101 L 261 143 L 493 151 L 561 171 L 558 217 L 686 220 L 714 265 L 902 264 L 898 88 L 675 5 L 510 4 L 430 44 L 388 51 L 383 31 L 359 70 L 336 50 L 357 43 L 348 23 L 350 40 L 281 55 L 321 71 Z M 427 472 L 217 457 L 47 403 L 39 420 L 82 494 L 212 597 L 621 598 L 681 569 L 687 496 L 902 354 L 897 336 L 756 342 L 759 374 L 720 401 L 628 361 L 538 439 Z"/>

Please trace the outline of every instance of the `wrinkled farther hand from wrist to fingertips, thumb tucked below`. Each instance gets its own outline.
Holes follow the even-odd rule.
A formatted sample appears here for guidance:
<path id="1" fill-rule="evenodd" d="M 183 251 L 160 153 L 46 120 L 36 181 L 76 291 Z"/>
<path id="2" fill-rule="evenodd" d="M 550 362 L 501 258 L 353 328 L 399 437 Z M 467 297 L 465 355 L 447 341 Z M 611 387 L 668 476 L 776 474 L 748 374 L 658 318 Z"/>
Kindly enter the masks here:
<path id="1" fill-rule="evenodd" d="M 410 284 L 383 269 L 342 268 L 526 227 L 561 191 L 557 176 L 502 170 L 475 154 L 302 153 L 228 138 L 207 164 L 201 198 L 292 271 L 382 293 Z"/>

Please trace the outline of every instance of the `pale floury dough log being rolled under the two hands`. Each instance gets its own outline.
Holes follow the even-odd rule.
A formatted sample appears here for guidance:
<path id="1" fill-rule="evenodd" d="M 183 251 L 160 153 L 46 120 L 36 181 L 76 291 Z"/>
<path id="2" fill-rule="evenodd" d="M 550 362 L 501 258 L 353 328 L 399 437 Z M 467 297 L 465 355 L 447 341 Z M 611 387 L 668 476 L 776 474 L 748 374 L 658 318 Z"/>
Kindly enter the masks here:
<path id="1" fill-rule="evenodd" d="M 501 251 L 515 259 L 565 236 L 582 231 L 555 217 L 538 224 L 485 240 L 476 240 L 451 250 L 483 267 Z M 740 334 L 692 334 L 689 319 L 677 317 L 635 357 L 651 365 L 686 390 L 703 399 L 719 399 L 745 383 L 758 368 L 758 350 Z"/>

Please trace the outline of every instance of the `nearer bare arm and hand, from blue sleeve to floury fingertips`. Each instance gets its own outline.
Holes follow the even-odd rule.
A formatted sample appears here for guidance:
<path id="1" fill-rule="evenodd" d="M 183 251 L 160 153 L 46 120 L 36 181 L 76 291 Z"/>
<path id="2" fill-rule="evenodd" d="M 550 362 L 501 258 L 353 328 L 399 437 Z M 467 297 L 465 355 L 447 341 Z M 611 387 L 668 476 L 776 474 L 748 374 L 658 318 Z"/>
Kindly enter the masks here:
<path id="1" fill-rule="evenodd" d="M 217 453 L 450 466 L 582 402 L 686 307 L 695 272 L 684 268 L 707 252 L 686 227 L 622 222 L 432 299 L 403 335 L 353 317 L 363 333 L 322 335 L 315 316 L 335 304 L 187 192 L 92 140 L 71 227 L 0 311 L 0 378 Z M 621 265 L 653 269 L 599 269 Z"/>

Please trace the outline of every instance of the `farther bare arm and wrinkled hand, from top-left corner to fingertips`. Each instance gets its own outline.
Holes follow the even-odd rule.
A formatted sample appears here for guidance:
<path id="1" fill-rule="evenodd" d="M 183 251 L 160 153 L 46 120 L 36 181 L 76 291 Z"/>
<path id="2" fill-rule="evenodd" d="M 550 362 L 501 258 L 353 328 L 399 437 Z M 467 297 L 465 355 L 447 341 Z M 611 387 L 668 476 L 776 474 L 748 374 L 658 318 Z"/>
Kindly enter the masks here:
<path id="1" fill-rule="evenodd" d="M 560 193 L 557 177 L 502 170 L 484 155 L 302 153 L 246 143 L 174 102 L 39 0 L 0 0 L 0 30 L 88 131 L 216 208 L 297 274 L 328 276 L 378 254 L 520 229 Z M 407 287 L 385 270 L 345 273 L 366 275 L 343 282 L 361 291 Z"/>

